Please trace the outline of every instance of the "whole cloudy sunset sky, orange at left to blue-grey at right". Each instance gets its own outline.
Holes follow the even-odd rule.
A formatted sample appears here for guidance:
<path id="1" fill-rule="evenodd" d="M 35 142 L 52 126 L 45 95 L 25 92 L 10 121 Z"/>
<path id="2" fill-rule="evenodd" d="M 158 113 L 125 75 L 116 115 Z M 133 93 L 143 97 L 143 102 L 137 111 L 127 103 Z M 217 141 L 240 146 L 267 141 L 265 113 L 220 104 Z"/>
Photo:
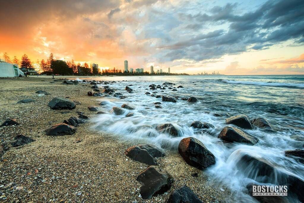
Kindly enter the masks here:
<path id="1" fill-rule="evenodd" d="M 303 0 L 0 0 L 0 56 L 226 75 L 304 74 Z"/>

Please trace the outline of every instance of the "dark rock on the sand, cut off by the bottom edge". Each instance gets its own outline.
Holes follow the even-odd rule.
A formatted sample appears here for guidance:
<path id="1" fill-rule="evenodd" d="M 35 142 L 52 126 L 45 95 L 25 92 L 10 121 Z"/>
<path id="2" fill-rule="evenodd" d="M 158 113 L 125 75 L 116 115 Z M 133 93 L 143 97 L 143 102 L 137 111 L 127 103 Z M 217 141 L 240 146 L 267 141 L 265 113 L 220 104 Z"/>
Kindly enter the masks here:
<path id="1" fill-rule="evenodd" d="M 194 194 L 194 192 L 187 186 L 182 186 L 178 189 L 175 189 L 167 203 L 203 203 L 199 197 Z"/>

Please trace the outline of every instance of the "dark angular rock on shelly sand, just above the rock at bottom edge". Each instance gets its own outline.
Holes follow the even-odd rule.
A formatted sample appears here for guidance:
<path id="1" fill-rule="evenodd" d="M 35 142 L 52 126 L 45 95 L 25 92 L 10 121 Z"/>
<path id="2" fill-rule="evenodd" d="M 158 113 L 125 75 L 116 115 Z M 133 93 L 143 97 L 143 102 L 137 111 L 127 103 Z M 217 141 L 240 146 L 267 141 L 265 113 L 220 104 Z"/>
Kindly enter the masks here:
<path id="1" fill-rule="evenodd" d="M 170 174 L 157 166 L 149 166 L 136 178 L 142 186 L 140 195 L 143 199 L 150 199 L 158 194 L 163 194 L 170 190 L 173 178 Z"/>

